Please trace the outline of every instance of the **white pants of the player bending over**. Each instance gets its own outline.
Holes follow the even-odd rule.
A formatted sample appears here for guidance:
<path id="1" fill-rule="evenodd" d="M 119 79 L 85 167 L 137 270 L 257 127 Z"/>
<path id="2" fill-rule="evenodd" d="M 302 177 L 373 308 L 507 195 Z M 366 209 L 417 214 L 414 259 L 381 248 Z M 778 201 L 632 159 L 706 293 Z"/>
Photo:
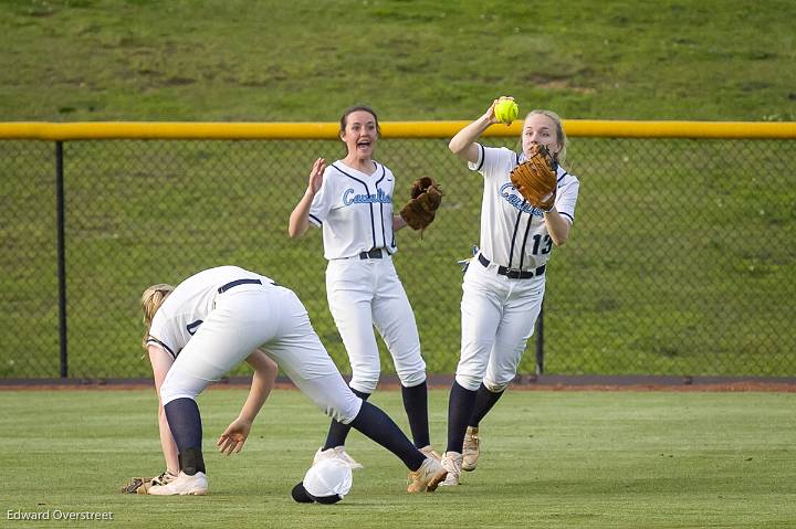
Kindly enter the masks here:
<path id="1" fill-rule="evenodd" d="M 160 388 L 164 405 L 196 399 L 260 347 L 321 410 L 342 423 L 362 406 L 312 328 L 296 295 L 284 287 L 241 285 L 219 294 Z"/>

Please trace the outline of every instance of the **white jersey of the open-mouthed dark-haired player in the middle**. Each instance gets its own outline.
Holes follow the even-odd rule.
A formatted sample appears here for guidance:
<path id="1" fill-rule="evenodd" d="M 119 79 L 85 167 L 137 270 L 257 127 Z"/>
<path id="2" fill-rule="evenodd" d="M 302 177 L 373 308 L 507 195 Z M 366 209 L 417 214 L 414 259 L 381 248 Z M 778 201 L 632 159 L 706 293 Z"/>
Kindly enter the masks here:
<path id="1" fill-rule="evenodd" d="M 394 254 L 392 171 L 375 162 L 366 174 L 337 160 L 324 171 L 310 208 L 310 222 L 323 226 L 324 256 L 347 258 L 371 248 Z"/>

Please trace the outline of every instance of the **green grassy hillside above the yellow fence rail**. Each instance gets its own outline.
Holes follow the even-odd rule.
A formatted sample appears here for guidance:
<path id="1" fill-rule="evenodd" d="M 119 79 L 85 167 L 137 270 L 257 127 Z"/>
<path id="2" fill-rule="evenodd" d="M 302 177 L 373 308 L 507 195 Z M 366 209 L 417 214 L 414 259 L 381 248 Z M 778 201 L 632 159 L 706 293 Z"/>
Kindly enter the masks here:
<path id="1" fill-rule="evenodd" d="M 3 0 L 0 120 L 796 119 L 796 3 Z"/>

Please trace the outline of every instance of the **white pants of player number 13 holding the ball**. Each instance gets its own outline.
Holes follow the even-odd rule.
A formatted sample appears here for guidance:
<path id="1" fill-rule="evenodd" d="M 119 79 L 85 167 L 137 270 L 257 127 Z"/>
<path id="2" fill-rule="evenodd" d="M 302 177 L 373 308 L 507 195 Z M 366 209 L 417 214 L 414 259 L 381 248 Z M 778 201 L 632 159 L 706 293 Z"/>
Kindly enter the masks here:
<path id="1" fill-rule="evenodd" d="M 509 385 L 542 309 L 545 275 L 509 279 L 499 275 L 496 267 L 473 260 L 462 283 L 461 358 L 455 380 L 468 390 L 478 390 L 482 381 L 492 392 Z"/>

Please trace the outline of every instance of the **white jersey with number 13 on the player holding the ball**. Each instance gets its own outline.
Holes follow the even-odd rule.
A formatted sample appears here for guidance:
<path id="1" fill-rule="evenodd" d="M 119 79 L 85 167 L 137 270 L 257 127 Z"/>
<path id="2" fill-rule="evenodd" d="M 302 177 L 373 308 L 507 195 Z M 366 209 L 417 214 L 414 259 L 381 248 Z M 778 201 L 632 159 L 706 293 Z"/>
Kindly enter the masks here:
<path id="1" fill-rule="evenodd" d="M 470 169 L 484 177 L 481 201 L 481 253 L 495 264 L 514 269 L 534 269 L 547 263 L 553 241 L 541 210 L 533 208 L 514 189 L 509 174 L 525 155 L 504 147 L 479 147 L 479 159 Z M 555 207 L 559 214 L 575 220 L 579 182 L 561 166 Z"/>

